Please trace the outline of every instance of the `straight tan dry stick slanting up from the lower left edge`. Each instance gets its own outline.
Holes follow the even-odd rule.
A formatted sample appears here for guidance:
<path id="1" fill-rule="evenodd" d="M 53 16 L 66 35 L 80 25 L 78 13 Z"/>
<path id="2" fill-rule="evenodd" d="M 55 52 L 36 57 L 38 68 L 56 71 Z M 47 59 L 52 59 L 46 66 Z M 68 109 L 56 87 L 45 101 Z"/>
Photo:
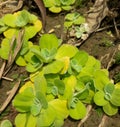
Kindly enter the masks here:
<path id="1" fill-rule="evenodd" d="M 15 94 L 16 94 L 18 88 L 19 88 L 19 85 L 20 85 L 20 80 L 15 84 L 15 86 L 10 91 L 9 96 L 7 97 L 5 102 L 3 103 L 2 107 L 0 108 L 0 114 L 6 109 L 8 104 L 11 102 L 12 98 L 15 96 Z"/>

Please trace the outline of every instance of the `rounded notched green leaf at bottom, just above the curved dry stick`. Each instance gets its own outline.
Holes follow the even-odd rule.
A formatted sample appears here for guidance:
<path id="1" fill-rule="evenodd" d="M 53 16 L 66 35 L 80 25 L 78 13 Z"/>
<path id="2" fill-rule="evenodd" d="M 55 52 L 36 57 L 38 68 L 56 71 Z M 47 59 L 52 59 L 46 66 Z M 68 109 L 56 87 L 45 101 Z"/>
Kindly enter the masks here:
<path id="1" fill-rule="evenodd" d="M 71 118 L 75 120 L 79 120 L 86 116 L 87 110 L 86 110 L 85 105 L 81 101 L 78 101 L 76 103 L 75 108 L 69 109 L 69 113 L 70 113 Z"/>

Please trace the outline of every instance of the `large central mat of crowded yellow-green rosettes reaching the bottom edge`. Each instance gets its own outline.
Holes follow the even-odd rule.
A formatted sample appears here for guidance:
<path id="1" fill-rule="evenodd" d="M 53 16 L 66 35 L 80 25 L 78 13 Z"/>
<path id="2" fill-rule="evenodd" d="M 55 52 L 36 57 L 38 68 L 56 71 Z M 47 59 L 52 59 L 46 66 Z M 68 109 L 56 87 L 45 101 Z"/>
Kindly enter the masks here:
<path id="1" fill-rule="evenodd" d="M 120 84 L 111 83 L 108 71 L 94 57 L 75 46 L 61 45 L 54 34 L 44 34 L 28 53 L 25 66 L 32 72 L 30 81 L 13 100 L 20 112 L 16 127 L 61 127 L 68 116 L 84 118 L 86 104 L 95 103 L 108 115 L 117 113 Z"/>

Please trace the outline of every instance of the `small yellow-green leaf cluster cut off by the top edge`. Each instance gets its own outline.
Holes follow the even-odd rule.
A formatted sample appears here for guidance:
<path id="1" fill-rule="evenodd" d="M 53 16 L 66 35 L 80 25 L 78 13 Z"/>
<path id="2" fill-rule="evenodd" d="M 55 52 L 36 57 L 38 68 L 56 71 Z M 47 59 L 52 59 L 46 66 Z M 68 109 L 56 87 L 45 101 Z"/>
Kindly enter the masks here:
<path id="1" fill-rule="evenodd" d="M 75 0 L 43 0 L 45 7 L 53 13 L 59 13 L 62 10 L 71 10 Z"/>

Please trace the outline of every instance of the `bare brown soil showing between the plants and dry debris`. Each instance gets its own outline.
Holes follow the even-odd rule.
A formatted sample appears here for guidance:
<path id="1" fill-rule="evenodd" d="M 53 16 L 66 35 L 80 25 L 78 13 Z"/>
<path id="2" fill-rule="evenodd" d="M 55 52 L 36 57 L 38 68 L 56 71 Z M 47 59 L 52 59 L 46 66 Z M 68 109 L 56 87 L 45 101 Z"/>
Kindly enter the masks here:
<path id="1" fill-rule="evenodd" d="M 89 4 L 87 4 L 84 8 L 80 9 L 79 12 L 82 10 L 86 11 L 86 8 L 89 7 Z M 35 12 L 36 13 L 36 12 Z M 66 13 L 66 12 L 65 12 Z M 51 29 L 54 29 L 54 33 L 60 38 L 63 37 L 63 22 L 64 22 L 64 15 L 62 14 L 52 14 L 50 12 L 47 13 L 47 23 L 46 23 L 46 31 L 50 31 Z M 39 15 L 39 14 L 38 14 Z M 106 20 L 104 21 L 106 24 Z M 113 23 L 112 23 L 113 25 Z M 57 27 L 60 26 L 60 27 Z M 111 29 L 112 30 L 112 29 Z M 113 29 L 114 31 L 114 29 Z M 115 35 L 115 32 L 113 32 Z M 63 37 L 63 42 L 67 43 L 69 38 Z M 113 42 L 113 45 L 106 46 L 106 40 Z M 118 50 L 118 47 L 120 45 L 120 41 L 114 44 L 116 41 L 115 36 L 111 37 L 107 34 L 107 30 L 93 33 L 89 39 L 87 39 L 84 44 L 82 44 L 79 48 L 82 50 L 85 50 L 89 54 L 93 55 L 95 58 L 101 60 L 102 68 L 109 67 L 110 72 L 110 78 L 114 79 L 115 74 L 120 72 L 120 65 L 110 65 L 110 61 L 113 59 L 114 52 Z M 0 67 L 2 65 L 2 60 L 0 59 Z M 26 76 L 25 69 L 19 68 L 18 66 L 13 66 L 13 68 L 8 73 L 7 77 L 12 78 L 15 75 L 18 75 L 17 78 L 21 78 Z M 5 99 L 7 98 L 6 92 L 8 92 L 12 87 L 14 83 L 6 80 L 2 80 L 0 82 L 0 106 L 3 104 Z M 16 115 L 16 111 L 14 108 L 9 105 L 6 111 L 0 116 L 0 120 L 8 118 L 11 121 L 13 121 L 14 117 Z M 86 122 L 82 125 L 82 127 L 98 127 L 101 122 L 102 116 L 99 115 L 95 109 L 93 108 L 91 111 L 91 115 L 86 120 Z M 117 114 L 115 116 L 109 117 L 106 120 L 106 127 L 120 127 L 120 114 Z M 77 127 L 78 123 L 80 121 L 73 121 L 70 118 L 65 120 L 65 124 L 63 127 Z"/>

